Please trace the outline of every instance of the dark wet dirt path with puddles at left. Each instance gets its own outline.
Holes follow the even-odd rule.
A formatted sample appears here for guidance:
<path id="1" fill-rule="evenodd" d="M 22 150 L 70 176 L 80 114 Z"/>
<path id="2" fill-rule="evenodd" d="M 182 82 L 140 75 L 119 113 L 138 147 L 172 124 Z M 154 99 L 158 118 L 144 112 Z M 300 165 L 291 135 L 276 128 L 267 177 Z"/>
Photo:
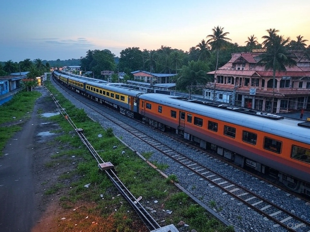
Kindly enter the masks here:
<path id="1" fill-rule="evenodd" d="M 5 156 L 0 158 L 0 231 L 31 231 L 39 224 L 47 204 L 53 202 L 44 191 L 63 171 L 60 168 L 55 173 L 44 166 L 58 149 L 47 143 L 55 136 L 48 131 L 57 129 L 58 125 L 39 117 L 39 109 L 43 113 L 55 112 L 56 106 L 44 88 L 36 90 L 42 96 L 36 101 L 31 118 L 7 143 Z"/>

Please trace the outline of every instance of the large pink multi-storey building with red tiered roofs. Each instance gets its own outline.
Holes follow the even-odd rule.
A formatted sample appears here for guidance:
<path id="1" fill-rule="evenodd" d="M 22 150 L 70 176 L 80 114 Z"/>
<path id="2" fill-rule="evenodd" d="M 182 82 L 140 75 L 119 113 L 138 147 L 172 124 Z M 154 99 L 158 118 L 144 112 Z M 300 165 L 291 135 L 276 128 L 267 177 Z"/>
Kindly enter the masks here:
<path id="1" fill-rule="evenodd" d="M 233 53 L 223 67 L 208 72 L 214 82 L 204 88 L 204 98 L 272 113 L 310 110 L 310 60 L 305 52 L 290 52 L 297 65 L 276 71 L 274 89 L 273 71 L 257 64 L 263 52 Z"/>

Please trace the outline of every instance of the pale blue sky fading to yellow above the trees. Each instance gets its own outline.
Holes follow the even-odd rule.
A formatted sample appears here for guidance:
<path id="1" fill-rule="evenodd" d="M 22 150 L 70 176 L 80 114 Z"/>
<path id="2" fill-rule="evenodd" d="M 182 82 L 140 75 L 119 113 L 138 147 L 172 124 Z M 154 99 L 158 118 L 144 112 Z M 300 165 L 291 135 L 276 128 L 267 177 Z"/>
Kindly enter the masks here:
<path id="1" fill-rule="evenodd" d="M 89 49 L 119 56 L 128 47 L 161 45 L 188 51 L 216 26 L 242 46 L 253 34 L 261 43 L 269 28 L 310 41 L 309 11 L 309 0 L 4 0 L 0 61 L 78 59 Z"/>

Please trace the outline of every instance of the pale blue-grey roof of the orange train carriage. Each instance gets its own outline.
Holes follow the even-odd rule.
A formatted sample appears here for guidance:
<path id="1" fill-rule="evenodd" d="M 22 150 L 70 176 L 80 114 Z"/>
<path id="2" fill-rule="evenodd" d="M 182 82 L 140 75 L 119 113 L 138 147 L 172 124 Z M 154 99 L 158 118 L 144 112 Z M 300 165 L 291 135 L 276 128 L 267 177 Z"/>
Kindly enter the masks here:
<path id="1" fill-rule="evenodd" d="M 176 107 L 180 110 L 184 110 L 185 112 L 191 112 L 210 118 L 216 118 L 224 122 L 237 124 L 259 131 L 265 131 L 270 134 L 310 144 L 310 128 L 298 126 L 298 124 L 301 122 L 300 120 L 288 119 L 283 117 L 278 118 L 278 120 L 274 120 L 274 118 L 272 119 L 272 116 L 270 118 L 265 118 L 261 115 L 240 113 L 234 111 L 233 109 L 228 110 L 219 108 L 219 106 L 222 106 L 220 104 L 218 104 L 218 107 L 209 106 L 204 104 L 198 104 L 190 100 L 188 101 L 185 98 L 179 98 L 159 93 L 146 93 L 141 95 L 139 98 L 157 102 L 162 105 Z M 267 115 L 267 113 L 260 113 Z"/>

